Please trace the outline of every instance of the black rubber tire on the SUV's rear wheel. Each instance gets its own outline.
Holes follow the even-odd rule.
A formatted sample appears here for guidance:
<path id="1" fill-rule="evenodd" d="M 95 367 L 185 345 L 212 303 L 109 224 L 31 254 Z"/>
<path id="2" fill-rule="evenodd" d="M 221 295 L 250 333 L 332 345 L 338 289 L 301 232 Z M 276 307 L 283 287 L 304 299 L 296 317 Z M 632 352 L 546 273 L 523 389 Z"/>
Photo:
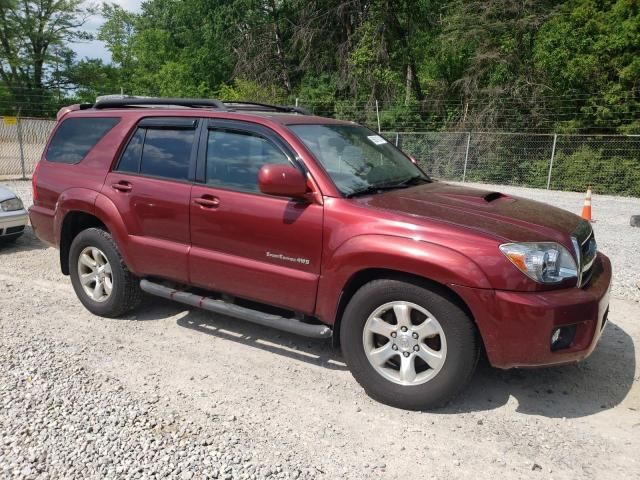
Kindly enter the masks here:
<path id="1" fill-rule="evenodd" d="M 110 293 L 107 295 L 108 288 L 103 285 L 103 297 L 99 300 L 90 296 L 83 286 L 80 279 L 80 269 L 85 268 L 79 266 L 80 255 L 87 253 L 93 258 L 94 253 L 98 251 L 95 258 L 106 258 L 110 267 L 110 281 L 103 279 L 103 284 L 110 284 Z M 101 262 L 98 261 L 96 265 Z M 106 263 L 103 263 L 103 266 Z M 87 267 L 87 275 L 91 275 L 91 268 Z M 127 268 L 120 255 L 120 251 L 116 246 L 111 235 L 98 228 L 89 228 L 80 232 L 71 243 L 69 251 L 69 274 L 71 276 L 71 284 L 87 310 L 95 315 L 107 318 L 116 318 L 135 309 L 142 300 L 142 290 L 140 290 L 139 279 L 136 278 Z M 93 287 L 92 287 L 93 285 Z M 87 285 L 89 290 L 95 291 L 95 282 Z"/>

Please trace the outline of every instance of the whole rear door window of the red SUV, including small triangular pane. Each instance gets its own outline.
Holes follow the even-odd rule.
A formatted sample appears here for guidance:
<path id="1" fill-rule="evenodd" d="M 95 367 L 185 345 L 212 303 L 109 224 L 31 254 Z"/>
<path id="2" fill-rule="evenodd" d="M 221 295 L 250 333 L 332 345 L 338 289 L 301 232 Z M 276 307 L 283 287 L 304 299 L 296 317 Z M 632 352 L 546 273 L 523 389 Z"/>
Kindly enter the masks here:
<path id="1" fill-rule="evenodd" d="M 194 129 L 138 128 L 116 170 L 187 180 L 194 137 Z"/>

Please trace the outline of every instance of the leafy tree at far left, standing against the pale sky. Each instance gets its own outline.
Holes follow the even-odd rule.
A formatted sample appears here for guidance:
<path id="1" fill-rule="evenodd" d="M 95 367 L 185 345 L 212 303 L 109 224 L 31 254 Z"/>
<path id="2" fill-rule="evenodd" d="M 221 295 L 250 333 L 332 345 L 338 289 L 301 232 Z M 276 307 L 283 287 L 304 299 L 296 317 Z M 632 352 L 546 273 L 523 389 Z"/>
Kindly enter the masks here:
<path id="1" fill-rule="evenodd" d="M 94 11 L 82 0 L 0 0 L 0 80 L 23 113 L 43 112 L 48 69 L 69 42 L 91 38 L 81 27 Z"/>

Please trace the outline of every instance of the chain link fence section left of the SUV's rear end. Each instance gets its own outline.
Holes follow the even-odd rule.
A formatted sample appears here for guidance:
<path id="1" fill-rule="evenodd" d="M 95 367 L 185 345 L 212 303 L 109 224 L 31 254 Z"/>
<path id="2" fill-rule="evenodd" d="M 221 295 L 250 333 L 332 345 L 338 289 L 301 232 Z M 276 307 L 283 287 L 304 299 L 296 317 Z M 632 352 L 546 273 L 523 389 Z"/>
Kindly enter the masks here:
<path id="1" fill-rule="evenodd" d="M 0 178 L 31 176 L 54 125 L 40 118 L 0 118 Z"/>

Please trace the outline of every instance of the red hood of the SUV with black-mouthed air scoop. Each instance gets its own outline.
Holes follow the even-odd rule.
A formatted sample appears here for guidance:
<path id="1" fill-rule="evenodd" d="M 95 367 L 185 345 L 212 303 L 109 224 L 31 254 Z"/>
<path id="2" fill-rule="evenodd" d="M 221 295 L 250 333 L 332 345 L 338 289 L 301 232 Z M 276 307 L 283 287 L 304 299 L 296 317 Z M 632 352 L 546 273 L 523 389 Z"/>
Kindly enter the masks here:
<path id="1" fill-rule="evenodd" d="M 571 247 L 581 218 L 545 203 L 433 182 L 357 199 L 369 207 L 434 219 L 511 242 L 556 241 Z"/>

